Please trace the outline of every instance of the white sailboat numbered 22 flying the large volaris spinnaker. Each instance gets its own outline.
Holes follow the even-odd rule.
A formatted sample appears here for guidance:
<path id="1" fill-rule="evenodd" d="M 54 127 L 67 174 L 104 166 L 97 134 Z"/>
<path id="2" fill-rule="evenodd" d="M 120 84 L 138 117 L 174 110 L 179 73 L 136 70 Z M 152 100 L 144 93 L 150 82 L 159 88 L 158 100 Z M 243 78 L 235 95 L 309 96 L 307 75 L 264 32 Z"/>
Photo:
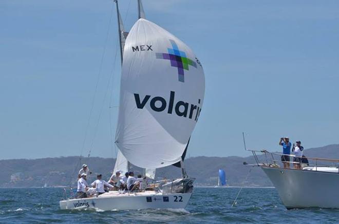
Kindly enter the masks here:
<path id="1" fill-rule="evenodd" d="M 154 190 L 62 200 L 60 208 L 183 209 L 195 180 L 187 175 L 183 159 L 203 105 L 203 68 L 186 44 L 145 19 L 140 0 L 139 19 L 125 32 L 115 3 L 122 61 L 115 144 L 127 166 L 155 174 L 155 169 L 174 165 L 182 175 L 164 180 Z"/>

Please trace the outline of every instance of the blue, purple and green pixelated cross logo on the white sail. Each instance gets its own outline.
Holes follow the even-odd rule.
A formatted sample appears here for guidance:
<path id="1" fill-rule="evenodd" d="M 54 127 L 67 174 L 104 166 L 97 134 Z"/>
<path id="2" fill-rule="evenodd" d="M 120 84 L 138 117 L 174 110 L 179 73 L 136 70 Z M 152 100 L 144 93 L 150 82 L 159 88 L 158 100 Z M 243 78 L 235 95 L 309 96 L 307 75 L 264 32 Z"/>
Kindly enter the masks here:
<path id="1" fill-rule="evenodd" d="M 156 53 L 158 59 L 168 59 L 171 66 L 178 68 L 179 82 L 184 82 L 184 70 L 190 70 L 189 65 L 197 68 L 197 63 L 186 57 L 186 53 L 180 51 L 174 40 L 170 39 L 172 48 L 167 48 L 168 53 Z"/>

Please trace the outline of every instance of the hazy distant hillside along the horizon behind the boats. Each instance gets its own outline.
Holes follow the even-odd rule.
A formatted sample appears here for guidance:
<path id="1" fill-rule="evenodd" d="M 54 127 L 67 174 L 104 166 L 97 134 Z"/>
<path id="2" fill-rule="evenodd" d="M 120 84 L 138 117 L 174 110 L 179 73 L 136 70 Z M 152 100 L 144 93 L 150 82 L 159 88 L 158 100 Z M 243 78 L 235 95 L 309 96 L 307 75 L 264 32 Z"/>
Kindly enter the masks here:
<path id="1" fill-rule="evenodd" d="M 339 145 L 329 145 L 305 150 L 309 157 L 338 158 Z M 263 158 L 263 156 L 260 156 Z M 258 167 L 243 166 L 243 161 L 255 163 L 253 156 L 249 157 L 191 157 L 185 160 L 187 173 L 196 178 L 197 186 L 215 186 L 218 169 L 224 169 L 229 186 L 272 186 L 271 181 Z M 9 159 L 0 160 L 0 187 L 42 187 L 75 185 L 77 173 L 81 164 L 88 164 L 94 173 L 102 173 L 105 178 L 110 176 L 115 163 L 112 158 L 82 158 L 77 156 L 43 158 L 43 159 Z M 133 168 L 141 172 L 139 168 Z M 249 171 L 251 173 L 249 174 Z M 176 167 L 166 167 L 157 170 L 157 179 L 175 178 L 181 175 Z M 248 178 L 247 178 L 248 177 Z"/>

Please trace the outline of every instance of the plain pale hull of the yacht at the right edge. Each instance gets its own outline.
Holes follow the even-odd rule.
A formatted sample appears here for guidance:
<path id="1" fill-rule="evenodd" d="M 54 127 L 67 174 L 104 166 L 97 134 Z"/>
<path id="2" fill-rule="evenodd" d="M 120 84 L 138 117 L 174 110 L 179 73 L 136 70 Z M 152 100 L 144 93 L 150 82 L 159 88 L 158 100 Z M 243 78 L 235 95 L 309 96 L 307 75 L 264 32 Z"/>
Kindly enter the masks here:
<path id="1" fill-rule="evenodd" d="M 261 167 L 287 209 L 339 209 L 339 173 Z"/>

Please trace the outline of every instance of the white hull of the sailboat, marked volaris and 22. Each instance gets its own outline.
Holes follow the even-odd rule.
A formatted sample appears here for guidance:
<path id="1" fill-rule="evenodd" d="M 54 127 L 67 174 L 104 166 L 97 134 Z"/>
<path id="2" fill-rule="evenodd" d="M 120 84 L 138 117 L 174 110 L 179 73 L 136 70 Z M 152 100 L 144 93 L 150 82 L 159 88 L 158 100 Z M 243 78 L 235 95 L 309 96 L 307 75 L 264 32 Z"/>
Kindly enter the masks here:
<path id="1" fill-rule="evenodd" d="M 109 192 L 98 197 L 60 201 L 60 209 L 96 208 L 109 210 L 184 209 L 192 193 L 162 194 L 154 191 L 140 193 Z"/>

